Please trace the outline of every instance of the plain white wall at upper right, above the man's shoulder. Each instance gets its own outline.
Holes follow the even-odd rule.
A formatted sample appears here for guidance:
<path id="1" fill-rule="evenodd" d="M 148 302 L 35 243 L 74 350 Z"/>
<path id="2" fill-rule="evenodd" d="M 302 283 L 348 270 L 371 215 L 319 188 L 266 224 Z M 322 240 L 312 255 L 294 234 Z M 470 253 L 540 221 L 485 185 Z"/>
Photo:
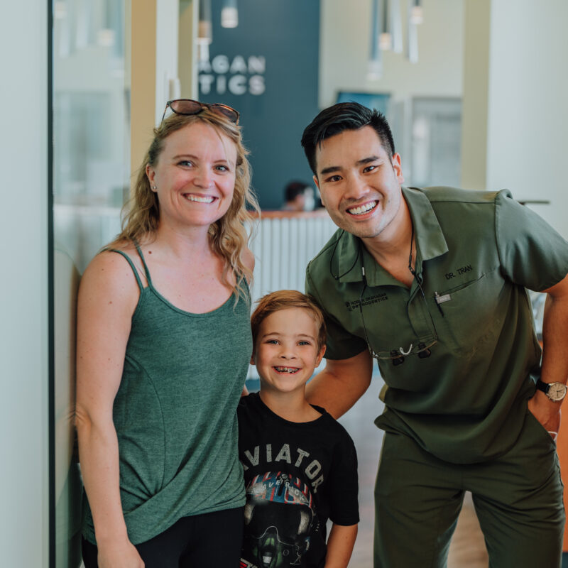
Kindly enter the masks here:
<path id="1" fill-rule="evenodd" d="M 508 187 L 568 237 L 568 2 L 491 2 L 487 187 Z"/>

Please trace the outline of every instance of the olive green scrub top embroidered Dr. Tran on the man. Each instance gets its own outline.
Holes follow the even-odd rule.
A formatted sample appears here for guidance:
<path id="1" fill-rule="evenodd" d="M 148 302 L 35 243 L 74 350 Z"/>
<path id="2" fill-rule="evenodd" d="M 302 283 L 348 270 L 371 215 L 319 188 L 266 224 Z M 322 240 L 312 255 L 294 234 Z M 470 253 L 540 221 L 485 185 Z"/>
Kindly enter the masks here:
<path id="1" fill-rule="evenodd" d="M 486 461 L 515 443 L 540 372 L 526 288 L 564 278 L 568 244 L 507 190 L 402 191 L 415 230 L 410 288 L 342 229 L 307 266 L 306 291 L 326 319 L 325 356 L 355 356 L 365 337 L 381 356 L 435 342 L 428 357 L 378 360 L 386 410 L 376 425 L 446 461 Z"/>

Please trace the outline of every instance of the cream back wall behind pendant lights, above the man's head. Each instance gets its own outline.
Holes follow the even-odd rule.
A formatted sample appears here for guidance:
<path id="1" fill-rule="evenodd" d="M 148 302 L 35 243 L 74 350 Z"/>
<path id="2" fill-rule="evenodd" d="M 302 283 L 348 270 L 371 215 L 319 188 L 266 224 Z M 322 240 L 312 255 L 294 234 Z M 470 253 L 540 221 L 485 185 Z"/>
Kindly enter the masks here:
<path id="1" fill-rule="evenodd" d="M 368 80 L 371 0 L 322 0 L 320 107 L 334 104 L 338 90 L 387 92 L 397 99 L 461 97 L 464 0 L 424 0 L 422 5 L 419 61 L 413 64 L 403 54 L 387 52 L 383 77 Z M 407 2 L 400 0 L 400 6 L 405 22 Z"/>

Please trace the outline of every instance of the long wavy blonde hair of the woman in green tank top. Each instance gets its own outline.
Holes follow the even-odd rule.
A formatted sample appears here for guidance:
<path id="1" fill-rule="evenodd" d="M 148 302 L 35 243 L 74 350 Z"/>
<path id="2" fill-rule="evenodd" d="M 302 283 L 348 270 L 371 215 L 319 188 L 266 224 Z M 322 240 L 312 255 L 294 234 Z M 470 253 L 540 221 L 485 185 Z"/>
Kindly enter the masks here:
<path id="1" fill-rule="evenodd" d="M 209 109 L 203 109 L 199 114 L 192 115 L 172 114 L 154 129 L 154 139 L 138 170 L 131 198 L 123 207 L 122 231 L 107 248 L 124 244 L 124 241 L 148 244 L 155 239 L 155 231 L 160 222 L 160 204 L 146 175 L 146 165 L 154 167 L 158 163 L 164 141 L 170 134 L 198 121 L 209 124 L 219 134 L 227 136 L 236 146 L 233 200 L 224 216 L 209 226 L 209 242 L 212 251 L 224 260 L 222 283 L 233 289 L 236 300 L 239 300 L 239 297 L 246 299 L 248 294 L 244 280 L 250 283 L 253 275 L 244 264 L 242 254 L 249 244 L 256 219 L 247 206 L 257 214 L 260 212 L 260 207 L 251 190 L 251 167 L 246 158 L 249 152 L 243 146 L 240 127 L 223 116 L 212 113 Z M 228 276 L 231 272 L 235 275 L 236 285 L 231 285 L 229 282 Z"/>

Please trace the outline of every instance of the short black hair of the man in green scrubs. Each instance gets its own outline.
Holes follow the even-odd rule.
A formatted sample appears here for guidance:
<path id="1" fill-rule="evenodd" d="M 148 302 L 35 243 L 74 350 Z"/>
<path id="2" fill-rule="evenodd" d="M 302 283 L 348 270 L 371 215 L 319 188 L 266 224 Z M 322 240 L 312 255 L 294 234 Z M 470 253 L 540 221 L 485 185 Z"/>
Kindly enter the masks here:
<path id="1" fill-rule="evenodd" d="M 315 165 L 315 149 L 326 138 L 346 130 L 359 130 L 371 126 L 381 140 L 383 148 L 392 158 L 395 153 L 395 143 L 391 127 L 385 116 L 373 109 L 368 109 L 358 102 L 339 102 L 324 109 L 308 124 L 302 134 L 302 148 L 312 172 L 317 176 Z"/>

